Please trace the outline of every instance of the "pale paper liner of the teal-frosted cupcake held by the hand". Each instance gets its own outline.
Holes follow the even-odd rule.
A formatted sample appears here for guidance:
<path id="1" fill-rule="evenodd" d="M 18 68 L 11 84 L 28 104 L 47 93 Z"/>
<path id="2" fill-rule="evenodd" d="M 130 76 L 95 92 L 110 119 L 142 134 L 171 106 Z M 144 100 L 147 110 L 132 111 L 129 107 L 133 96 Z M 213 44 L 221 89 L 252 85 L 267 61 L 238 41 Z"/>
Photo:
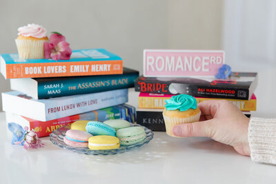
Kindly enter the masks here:
<path id="1" fill-rule="evenodd" d="M 166 133 L 169 136 L 175 136 L 172 133 L 172 127 L 174 127 L 175 125 L 179 125 L 181 123 L 193 123 L 193 122 L 199 121 L 200 114 L 201 114 L 201 112 L 199 111 L 199 113 L 195 114 L 194 116 L 190 116 L 188 118 L 178 118 L 176 116 L 174 116 L 174 117 L 164 116 L 164 113 L 163 113 L 163 117 L 164 117 L 164 121 L 165 121 L 165 125 L 166 125 Z M 177 137 L 177 136 L 175 136 L 175 137 Z"/>

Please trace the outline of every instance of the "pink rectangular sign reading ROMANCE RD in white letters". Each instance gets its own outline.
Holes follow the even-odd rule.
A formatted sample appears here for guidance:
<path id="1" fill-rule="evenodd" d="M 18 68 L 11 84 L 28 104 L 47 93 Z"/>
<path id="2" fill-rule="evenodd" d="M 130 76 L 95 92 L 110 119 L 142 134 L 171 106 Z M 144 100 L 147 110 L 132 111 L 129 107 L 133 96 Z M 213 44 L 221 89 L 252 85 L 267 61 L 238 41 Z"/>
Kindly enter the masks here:
<path id="1" fill-rule="evenodd" d="M 144 76 L 215 76 L 223 50 L 144 50 Z"/>

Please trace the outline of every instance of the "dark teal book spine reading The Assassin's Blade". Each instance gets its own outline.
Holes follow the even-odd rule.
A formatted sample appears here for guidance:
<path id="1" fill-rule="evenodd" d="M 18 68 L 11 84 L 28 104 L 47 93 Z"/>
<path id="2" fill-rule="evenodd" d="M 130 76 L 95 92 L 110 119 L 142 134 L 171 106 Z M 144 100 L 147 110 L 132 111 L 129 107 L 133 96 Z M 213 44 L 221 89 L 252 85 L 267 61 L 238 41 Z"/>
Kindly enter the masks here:
<path id="1" fill-rule="evenodd" d="M 133 88 L 137 73 L 39 82 L 38 99 Z"/>

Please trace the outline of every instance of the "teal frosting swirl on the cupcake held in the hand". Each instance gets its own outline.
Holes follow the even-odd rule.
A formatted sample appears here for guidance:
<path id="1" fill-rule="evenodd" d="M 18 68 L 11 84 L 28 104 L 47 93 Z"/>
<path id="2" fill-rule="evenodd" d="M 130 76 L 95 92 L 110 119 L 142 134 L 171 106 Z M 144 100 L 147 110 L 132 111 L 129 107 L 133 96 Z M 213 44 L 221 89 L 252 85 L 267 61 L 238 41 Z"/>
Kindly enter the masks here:
<path id="1" fill-rule="evenodd" d="M 186 111 L 188 109 L 197 108 L 197 100 L 195 97 L 188 94 L 179 94 L 177 96 L 172 96 L 170 99 L 166 100 L 165 105 L 166 110 L 179 110 Z"/>

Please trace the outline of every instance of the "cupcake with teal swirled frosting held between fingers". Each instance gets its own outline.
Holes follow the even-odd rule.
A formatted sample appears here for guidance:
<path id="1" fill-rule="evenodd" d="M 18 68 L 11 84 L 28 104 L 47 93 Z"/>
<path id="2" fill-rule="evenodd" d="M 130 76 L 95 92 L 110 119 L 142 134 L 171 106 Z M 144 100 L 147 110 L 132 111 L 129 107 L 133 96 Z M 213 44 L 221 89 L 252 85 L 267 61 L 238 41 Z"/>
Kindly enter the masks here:
<path id="1" fill-rule="evenodd" d="M 172 127 L 181 123 L 193 123 L 199 121 L 200 110 L 197 108 L 197 100 L 188 94 L 179 94 L 166 100 L 163 117 L 166 125 L 166 133 L 172 133 Z"/>

